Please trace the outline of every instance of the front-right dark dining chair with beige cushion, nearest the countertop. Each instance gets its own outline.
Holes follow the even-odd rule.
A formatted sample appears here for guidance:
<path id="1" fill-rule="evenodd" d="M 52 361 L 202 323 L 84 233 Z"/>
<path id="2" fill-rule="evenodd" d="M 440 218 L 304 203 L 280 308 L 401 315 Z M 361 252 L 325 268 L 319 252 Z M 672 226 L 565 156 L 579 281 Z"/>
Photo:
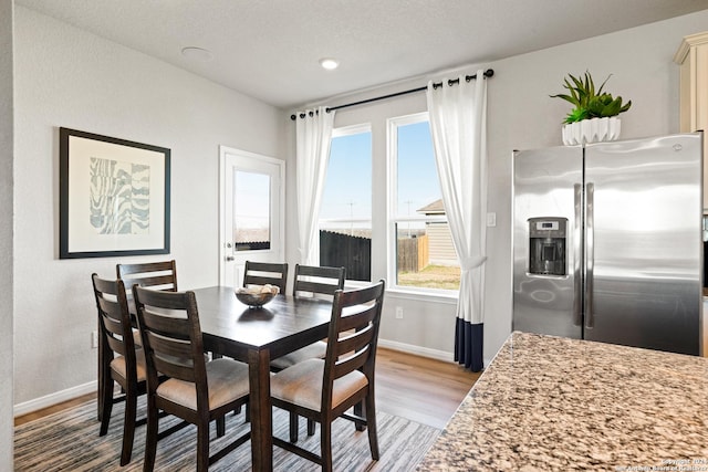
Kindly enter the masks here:
<path id="1" fill-rule="evenodd" d="M 308 359 L 274 374 L 272 403 L 320 423 L 320 455 L 273 437 L 273 444 L 332 470 L 332 421 L 346 418 L 368 430 L 372 459 L 378 460 L 374 376 L 385 282 L 337 290 L 324 359 Z M 364 415 L 360 415 L 360 406 Z M 354 407 L 353 412 L 347 412 Z M 292 432 L 291 432 L 292 436 Z"/>

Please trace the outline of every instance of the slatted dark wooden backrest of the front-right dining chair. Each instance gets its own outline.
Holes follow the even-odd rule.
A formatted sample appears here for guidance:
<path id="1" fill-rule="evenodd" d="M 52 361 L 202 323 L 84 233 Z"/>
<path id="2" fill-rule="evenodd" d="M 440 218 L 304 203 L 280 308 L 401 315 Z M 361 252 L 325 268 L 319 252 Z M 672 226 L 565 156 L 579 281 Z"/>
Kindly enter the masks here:
<path id="1" fill-rule="evenodd" d="M 361 369 L 373 382 L 385 282 L 334 294 L 324 361 L 322 405 L 330 405 L 334 380 Z"/>

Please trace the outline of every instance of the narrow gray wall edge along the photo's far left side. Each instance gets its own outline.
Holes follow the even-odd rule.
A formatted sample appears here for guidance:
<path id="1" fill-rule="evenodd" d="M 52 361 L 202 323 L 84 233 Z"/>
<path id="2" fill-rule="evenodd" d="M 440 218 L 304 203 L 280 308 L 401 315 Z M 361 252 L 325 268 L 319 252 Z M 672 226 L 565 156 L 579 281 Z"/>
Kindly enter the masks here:
<path id="1" fill-rule="evenodd" d="M 0 0 L 0 464 L 12 463 L 12 0 Z"/>

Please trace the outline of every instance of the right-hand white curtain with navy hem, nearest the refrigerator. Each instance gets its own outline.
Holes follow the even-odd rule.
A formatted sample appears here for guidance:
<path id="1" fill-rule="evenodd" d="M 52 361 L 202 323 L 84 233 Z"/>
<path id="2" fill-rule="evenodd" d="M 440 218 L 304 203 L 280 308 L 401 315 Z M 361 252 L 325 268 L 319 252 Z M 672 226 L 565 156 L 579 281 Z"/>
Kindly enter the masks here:
<path id="1" fill-rule="evenodd" d="M 442 202 L 461 268 L 457 305 L 456 359 L 482 368 L 487 218 L 487 81 L 428 83 L 430 133 Z"/>

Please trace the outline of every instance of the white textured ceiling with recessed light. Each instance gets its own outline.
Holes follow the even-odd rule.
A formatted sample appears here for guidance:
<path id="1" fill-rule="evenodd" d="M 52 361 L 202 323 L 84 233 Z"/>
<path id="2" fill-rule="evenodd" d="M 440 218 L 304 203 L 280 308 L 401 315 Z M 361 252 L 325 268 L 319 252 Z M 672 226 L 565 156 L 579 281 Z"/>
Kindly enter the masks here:
<path id="1" fill-rule="evenodd" d="M 290 108 L 708 9 L 708 0 L 15 0 Z M 181 54 L 202 48 L 212 59 Z M 322 57 L 340 67 L 325 71 Z"/>

